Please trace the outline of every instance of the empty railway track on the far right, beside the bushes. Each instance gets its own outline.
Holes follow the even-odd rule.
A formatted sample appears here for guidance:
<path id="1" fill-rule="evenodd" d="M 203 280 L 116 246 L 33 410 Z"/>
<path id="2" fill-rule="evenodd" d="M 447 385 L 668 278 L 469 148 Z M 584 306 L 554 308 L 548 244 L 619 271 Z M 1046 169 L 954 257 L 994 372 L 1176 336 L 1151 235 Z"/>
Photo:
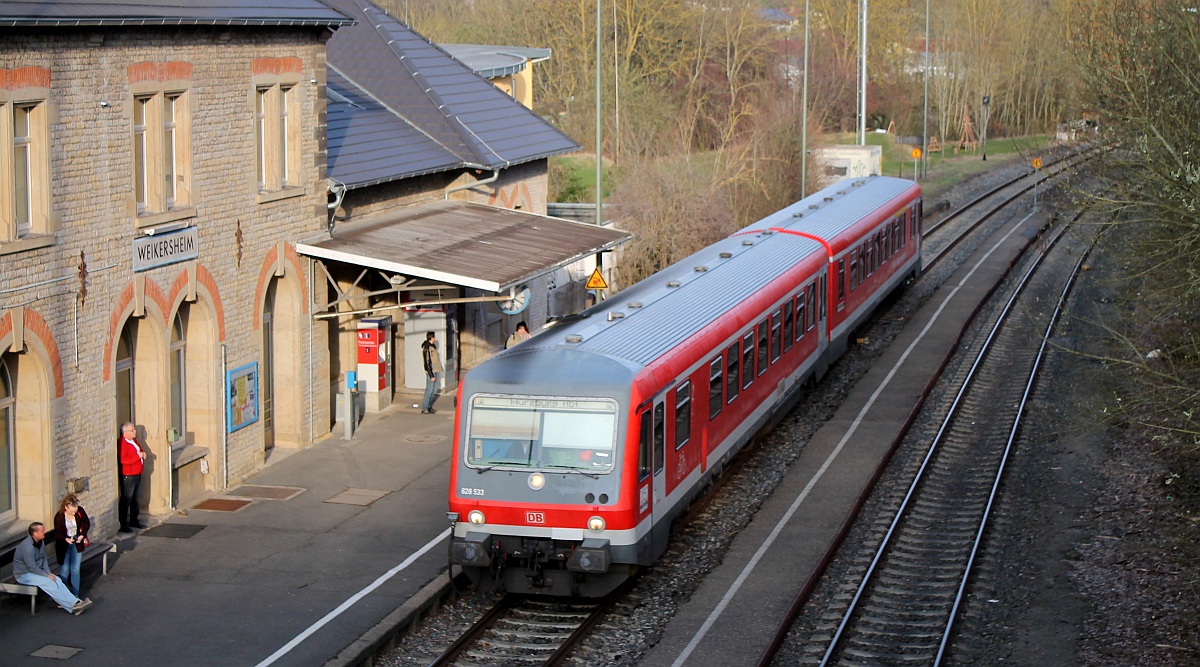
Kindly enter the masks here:
<path id="1" fill-rule="evenodd" d="M 852 557 L 848 569 L 864 572 L 860 582 L 833 594 L 836 602 L 818 623 L 823 630 L 798 649 L 800 663 L 942 663 L 1044 341 L 1082 263 L 1072 268 L 1064 253 L 1049 254 L 1062 234 L 1032 263 L 956 380 L 956 396 L 912 483 L 894 501 L 894 517 L 875 521 L 878 548 Z M 1043 264 L 1046 257 L 1052 259 Z"/>

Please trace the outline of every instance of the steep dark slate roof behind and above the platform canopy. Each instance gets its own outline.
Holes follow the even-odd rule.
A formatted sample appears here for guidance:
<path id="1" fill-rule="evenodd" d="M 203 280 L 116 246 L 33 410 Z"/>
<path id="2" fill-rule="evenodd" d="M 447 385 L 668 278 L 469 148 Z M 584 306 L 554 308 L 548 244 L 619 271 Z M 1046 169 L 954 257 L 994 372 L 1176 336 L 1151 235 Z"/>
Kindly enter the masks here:
<path id="1" fill-rule="evenodd" d="M 348 187 L 457 168 L 500 169 L 580 145 L 367 0 L 325 0 L 358 23 L 326 46 L 329 175 Z M 356 91 L 355 91 L 356 90 Z M 368 98 L 347 106 L 337 98 Z M 392 116 L 412 126 L 397 131 Z M 397 132 L 389 136 L 390 132 Z M 372 137 L 392 150 L 365 150 Z"/>

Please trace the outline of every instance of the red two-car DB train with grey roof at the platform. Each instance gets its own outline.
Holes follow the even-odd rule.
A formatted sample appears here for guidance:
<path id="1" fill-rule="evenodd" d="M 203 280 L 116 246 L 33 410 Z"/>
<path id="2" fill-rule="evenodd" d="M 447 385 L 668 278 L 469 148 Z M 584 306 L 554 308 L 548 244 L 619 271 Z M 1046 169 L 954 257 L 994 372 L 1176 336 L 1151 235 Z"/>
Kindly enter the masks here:
<path id="1" fill-rule="evenodd" d="M 463 378 L 451 563 L 484 589 L 599 596 L 920 271 L 920 188 L 841 181 Z"/>

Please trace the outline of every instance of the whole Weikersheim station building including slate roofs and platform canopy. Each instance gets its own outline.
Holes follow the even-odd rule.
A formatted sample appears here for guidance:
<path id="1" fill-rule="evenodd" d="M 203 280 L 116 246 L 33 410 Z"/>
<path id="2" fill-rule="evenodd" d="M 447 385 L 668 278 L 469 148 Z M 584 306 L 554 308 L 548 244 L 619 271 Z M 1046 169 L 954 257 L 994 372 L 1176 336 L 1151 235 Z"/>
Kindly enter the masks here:
<path id="1" fill-rule="evenodd" d="M 413 336 L 452 383 L 545 318 L 625 238 L 542 215 L 576 148 L 365 0 L 0 5 L 0 552 L 115 530 L 125 421 L 162 515 L 329 437 L 364 319 L 383 409 Z"/>

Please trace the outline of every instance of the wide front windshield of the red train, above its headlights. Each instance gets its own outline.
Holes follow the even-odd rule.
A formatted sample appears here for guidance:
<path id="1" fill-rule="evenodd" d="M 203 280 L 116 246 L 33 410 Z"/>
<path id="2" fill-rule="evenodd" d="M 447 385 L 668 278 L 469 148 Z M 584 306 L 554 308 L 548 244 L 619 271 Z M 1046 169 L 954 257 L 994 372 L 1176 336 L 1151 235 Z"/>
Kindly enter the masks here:
<path id="1" fill-rule="evenodd" d="M 467 415 L 467 462 L 504 468 L 607 473 L 617 443 L 608 398 L 475 396 Z"/>

